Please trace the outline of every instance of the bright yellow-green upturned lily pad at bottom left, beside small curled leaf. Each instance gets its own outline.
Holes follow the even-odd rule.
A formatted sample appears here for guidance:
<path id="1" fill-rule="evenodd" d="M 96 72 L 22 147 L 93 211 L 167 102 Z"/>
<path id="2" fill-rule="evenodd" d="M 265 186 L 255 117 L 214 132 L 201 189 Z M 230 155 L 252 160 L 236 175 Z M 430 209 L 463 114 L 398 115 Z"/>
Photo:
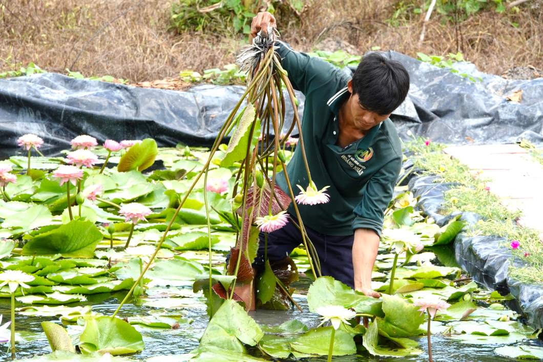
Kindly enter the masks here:
<path id="1" fill-rule="evenodd" d="M 110 353 L 112 355 L 143 351 L 140 332 L 129 323 L 110 316 L 88 317 L 79 337 L 83 353 Z"/>

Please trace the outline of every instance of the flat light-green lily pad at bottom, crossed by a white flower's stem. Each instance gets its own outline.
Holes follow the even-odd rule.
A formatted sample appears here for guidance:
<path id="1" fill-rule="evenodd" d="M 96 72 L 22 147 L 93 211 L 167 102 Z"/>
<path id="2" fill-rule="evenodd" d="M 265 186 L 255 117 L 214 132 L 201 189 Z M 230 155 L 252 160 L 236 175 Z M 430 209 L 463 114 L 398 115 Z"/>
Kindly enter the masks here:
<path id="1" fill-rule="evenodd" d="M 321 327 L 312 329 L 302 334 L 291 342 L 291 348 L 294 351 L 311 355 L 327 355 L 330 347 L 330 337 L 333 327 Z M 334 345 L 332 355 L 348 355 L 356 353 L 355 341 L 349 333 L 341 329 L 334 335 Z"/>

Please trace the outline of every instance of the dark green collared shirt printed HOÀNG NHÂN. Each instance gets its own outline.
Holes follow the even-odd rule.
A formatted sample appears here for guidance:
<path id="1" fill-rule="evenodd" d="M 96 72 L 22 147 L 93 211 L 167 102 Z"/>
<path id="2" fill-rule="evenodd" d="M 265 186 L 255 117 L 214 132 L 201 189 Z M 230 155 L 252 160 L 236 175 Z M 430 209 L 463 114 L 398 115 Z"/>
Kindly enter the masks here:
<path id="1" fill-rule="evenodd" d="M 339 147 L 337 117 L 350 96 L 348 75 L 324 60 L 295 52 L 285 43 L 277 42 L 277 46 L 288 79 L 306 97 L 302 136 L 311 177 L 318 189 L 330 186 L 327 204 L 298 205 L 304 225 L 331 236 L 351 235 L 357 228 L 369 228 L 381 236 L 384 210 L 392 199 L 402 164 L 394 124 L 386 119 L 358 141 Z M 304 189 L 308 185 L 299 146 L 287 172 L 297 195 L 296 185 Z M 288 194 L 282 173 L 277 184 Z M 292 205 L 288 211 L 295 215 Z"/>

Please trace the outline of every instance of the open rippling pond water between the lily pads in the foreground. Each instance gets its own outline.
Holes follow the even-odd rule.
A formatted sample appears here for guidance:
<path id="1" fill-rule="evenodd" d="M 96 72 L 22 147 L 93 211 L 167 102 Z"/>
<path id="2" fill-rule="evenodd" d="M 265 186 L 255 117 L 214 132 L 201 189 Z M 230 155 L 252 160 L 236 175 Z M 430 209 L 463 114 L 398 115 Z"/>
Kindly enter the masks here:
<path id="1" fill-rule="evenodd" d="M 250 313 L 254 319 L 261 325 L 279 325 L 287 320 L 296 319 L 305 323 L 308 327 L 315 327 L 319 324 L 319 316 L 317 314 L 310 313 L 307 308 L 307 302 L 305 293 L 310 285 L 308 278 L 301 278 L 300 282 L 293 284 L 296 287 L 294 294 L 296 302 L 304 309 L 304 313 L 300 313 L 296 309 L 288 311 L 277 310 L 257 310 Z M 142 360 L 150 357 L 155 357 L 153 361 L 166 360 L 166 355 L 180 355 L 189 353 L 198 346 L 198 340 L 204 329 L 207 326 L 207 314 L 205 312 L 204 297 L 197 295 L 197 297 L 188 298 L 152 298 L 152 296 L 163 296 L 165 292 L 171 291 L 175 294 L 191 295 L 192 287 L 190 285 L 182 287 L 153 287 L 148 290 L 148 297 L 144 303 L 164 303 L 162 306 L 168 304 L 169 307 L 175 307 L 177 304 L 180 308 L 156 308 L 148 305 L 142 305 L 142 301 L 135 303 L 127 303 L 123 306 L 119 313 L 122 317 L 130 316 L 142 316 L 152 313 L 166 312 L 167 315 L 180 316 L 178 317 L 179 328 L 177 329 L 165 329 L 165 328 L 151 328 L 141 325 L 136 325 L 136 329 L 143 335 L 145 342 L 145 349 L 140 353 L 136 353 L 125 357 L 127 360 Z M 123 293 L 117 293 L 113 296 L 111 294 L 96 294 L 87 296 L 89 301 L 86 303 L 80 303 L 78 305 L 91 304 L 92 310 L 95 313 L 102 313 L 104 315 L 111 315 L 118 306 L 120 300 L 124 296 Z M 179 303 L 185 301 L 184 303 Z M 9 316 L 9 300 L 0 299 L 0 313 L 5 317 Z M 187 305 L 190 304 L 190 305 Z M 157 304 L 155 304 L 157 305 Z M 25 359 L 33 357 L 34 355 L 47 354 L 50 352 L 49 344 L 45 334 L 42 331 L 40 322 L 45 320 L 51 320 L 59 322 L 58 317 L 34 317 L 34 316 L 17 316 L 17 331 L 20 333 L 20 342 L 17 345 L 17 359 Z M 5 319 L 4 319 L 5 321 Z M 65 325 L 66 326 L 66 325 Z M 67 325 L 68 333 L 75 336 L 74 342 L 77 342 L 77 334 L 83 330 L 83 326 Z M 426 351 L 426 337 L 421 336 L 417 338 L 420 348 Z M 539 340 L 524 340 L 518 343 L 521 346 L 533 345 L 541 346 L 542 343 Z M 458 361 L 510 361 L 512 359 L 504 358 L 496 355 L 494 349 L 500 345 L 470 345 L 463 344 L 453 339 L 447 338 L 441 334 L 435 334 L 432 336 L 432 351 L 435 361 L 440 362 L 458 362 Z M 4 350 L 5 351 L 5 350 Z M 249 350 L 255 356 L 261 357 L 260 352 L 256 350 Z M 0 354 L 0 358 L 3 360 L 9 360 L 9 354 L 3 352 Z M 344 357 L 334 357 L 334 361 L 343 362 L 356 362 L 356 361 L 426 361 L 427 353 L 420 354 L 415 357 L 401 357 L 401 358 L 378 358 L 372 357 L 368 354 L 364 355 L 349 355 Z M 171 359 L 176 360 L 176 359 Z M 326 357 L 310 358 L 310 359 L 274 359 L 282 361 L 325 361 Z"/>

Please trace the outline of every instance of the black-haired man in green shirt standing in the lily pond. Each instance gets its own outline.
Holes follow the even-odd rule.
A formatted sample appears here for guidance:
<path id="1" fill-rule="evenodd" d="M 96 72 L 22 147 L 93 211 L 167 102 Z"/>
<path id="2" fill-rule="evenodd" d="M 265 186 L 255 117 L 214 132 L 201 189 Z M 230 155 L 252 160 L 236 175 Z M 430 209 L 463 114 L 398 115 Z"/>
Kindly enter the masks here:
<path id="1" fill-rule="evenodd" d="M 251 36 L 275 24 L 273 15 L 260 12 L 252 20 Z M 388 117 L 406 98 L 409 75 L 399 62 L 372 53 L 349 79 L 330 63 L 279 41 L 276 46 L 293 87 L 306 97 L 302 136 L 312 180 L 318 189 L 330 186 L 326 204 L 298 205 L 322 274 L 380 297 L 371 288 L 371 271 L 402 163 L 400 139 Z M 300 151 L 287 166 L 294 190 L 308 185 Z M 285 178 L 280 175 L 277 183 L 288 194 Z M 288 212 L 295 219 L 292 205 Z M 285 258 L 300 242 L 292 223 L 269 233 L 269 260 Z M 263 245 L 261 236 L 257 264 L 258 259 L 263 263 Z"/>

